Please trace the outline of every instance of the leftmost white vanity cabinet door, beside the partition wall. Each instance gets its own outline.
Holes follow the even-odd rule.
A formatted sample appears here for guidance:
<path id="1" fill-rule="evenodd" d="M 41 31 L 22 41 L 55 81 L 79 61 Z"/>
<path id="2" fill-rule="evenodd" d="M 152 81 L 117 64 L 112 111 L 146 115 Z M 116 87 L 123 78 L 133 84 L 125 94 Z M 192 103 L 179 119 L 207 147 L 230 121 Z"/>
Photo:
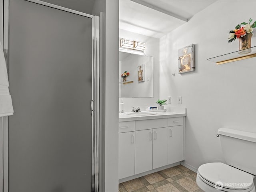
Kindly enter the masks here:
<path id="1" fill-rule="evenodd" d="M 118 178 L 134 175 L 135 132 L 119 133 Z"/>

